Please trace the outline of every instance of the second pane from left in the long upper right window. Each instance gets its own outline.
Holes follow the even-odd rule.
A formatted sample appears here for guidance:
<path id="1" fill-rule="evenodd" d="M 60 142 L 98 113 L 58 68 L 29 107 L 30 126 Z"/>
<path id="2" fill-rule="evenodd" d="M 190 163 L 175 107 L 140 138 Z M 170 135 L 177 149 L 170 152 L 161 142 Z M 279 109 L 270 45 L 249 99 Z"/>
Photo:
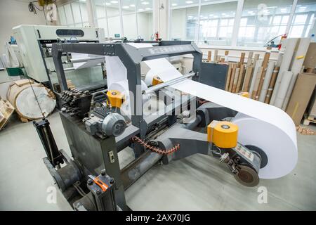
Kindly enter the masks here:
<path id="1" fill-rule="evenodd" d="M 199 44 L 231 45 L 236 9 L 237 1 L 202 4 L 199 17 Z"/>

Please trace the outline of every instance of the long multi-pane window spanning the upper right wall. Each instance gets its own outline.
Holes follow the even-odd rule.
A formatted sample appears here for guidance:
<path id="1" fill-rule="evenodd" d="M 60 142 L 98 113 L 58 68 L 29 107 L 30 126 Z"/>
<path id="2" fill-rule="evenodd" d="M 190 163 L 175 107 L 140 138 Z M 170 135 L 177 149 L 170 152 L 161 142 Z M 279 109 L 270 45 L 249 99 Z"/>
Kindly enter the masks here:
<path id="1" fill-rule="evenodd" d="M 315 32 L 315 0 L 170 0 L 170 8 L 169 39 L 199 45 L 276 46 L 282 34 Z"/>

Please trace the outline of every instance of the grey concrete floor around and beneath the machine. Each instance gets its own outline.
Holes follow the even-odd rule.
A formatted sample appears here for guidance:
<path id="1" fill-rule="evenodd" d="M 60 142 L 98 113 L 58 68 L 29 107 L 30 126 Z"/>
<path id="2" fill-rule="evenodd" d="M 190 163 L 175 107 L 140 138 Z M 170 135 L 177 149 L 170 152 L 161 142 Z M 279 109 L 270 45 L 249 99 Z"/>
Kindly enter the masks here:
<path id="1" fill-rule="evenodd" d="M 58 147 L 70 153 L 58 113 L 48 120 Z M 71 210 L 59 191 L 57 203 L 46 200 L 53 179 L 32 122 L 12 118 L 0 131 L 0 146 L 0 210 Z M 126 200 L 133 210 L 316 210 L 315 146 L 316 136 L 298 134 L 294 171 L 259 184 L 268 190 L 266 204 L 258 203 L 258 187 L 239 185 L 225 165 L 205 155 L 154 166 L 126 191 Z M 121 152 L 119 158 L 123 167 L 133 153 Z"/>

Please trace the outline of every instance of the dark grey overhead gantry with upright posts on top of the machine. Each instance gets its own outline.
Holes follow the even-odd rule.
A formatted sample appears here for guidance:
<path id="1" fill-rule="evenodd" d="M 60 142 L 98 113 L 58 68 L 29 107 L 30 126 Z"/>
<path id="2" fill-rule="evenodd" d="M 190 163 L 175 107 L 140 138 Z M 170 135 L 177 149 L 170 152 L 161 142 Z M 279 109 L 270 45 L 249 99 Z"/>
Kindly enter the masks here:
<path id="1" fill-rule="evenodd" d="M 140 137 L 144 138 L 147 133 L 147 123 L 143 117 L 143 101 L 141 90 L 137 87 L 141 85 L 140 63 L 145 60 L 166 58 L 171 56 L 183 56 L 192 54 L 193 71 L 199 73 L 202 65 L 202 51 L 191 41 L 146 41 L 146 43 L 156 43 L 159 46 L 137 49 L 126 43 L 115 44 L 53 44 L 53 61 L 58 76 L 58 82 L 62 91 L 68 89 L 65 71 L 62 65 L 62 53 L 88 53 L 100 56 L 118 56 L 127 70 L 129 80 L 129 91 L 136 96 L 136 101 L 131 105 L 131 122 L 138 127 Z M 197 80 L 199 77 L 193 77 Z"/>

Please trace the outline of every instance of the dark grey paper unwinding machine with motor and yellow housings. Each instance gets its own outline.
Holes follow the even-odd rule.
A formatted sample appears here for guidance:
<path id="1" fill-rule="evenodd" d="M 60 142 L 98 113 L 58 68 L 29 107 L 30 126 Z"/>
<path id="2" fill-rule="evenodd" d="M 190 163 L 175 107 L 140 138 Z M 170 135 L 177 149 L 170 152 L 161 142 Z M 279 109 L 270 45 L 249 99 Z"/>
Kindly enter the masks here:
<path id="1" fill-rule="evenodd" d="M 237 112 L 188 94 L 180 94 L 180 98 L 170 94 L 171 84 L 187 78 L 225 89 L 225 71 L 214 73 L 212 67 L 227 70 L 227 65 L 203 63 L 202 52 L 190 41 L 159 41 L 142 49 L 126 43 L 56 43 L 53 60 L 64 90 L 67 82 L 61 57 L 65 52 L 119 57 L 127 69 L 129 91 L 136 96 L 128 117 L 121 112 L 124 94 L 117 90 L 94 94 L 76 89 L 63 91 L 60 117 L 72 158 L 58 149 L 48 120 L 34 122 L 47 154 L 44 163 L 74 210 L 130 210 L 124 191 L 147 170 L 158 162 L 167 165 L 197 153 L 225 163 L 240 184 L 258 185 L 259 169 L 265 167 L 268 158 L 257 146 L 237 142 L 238 127 L 230 122 Z M 147 90 L 139 88 L 140 63 L 187 54 L 193 56 L 192 72 L 169 82 L 162 82 L 158 75 Z M 143 96 L 158 92 L 157 100 L 166 104 L 164 113 L 145 115 Z M 187 112 L 195 117 L 185 123 Z M 133 149 L 135 160 L 120 169 L 118 153 L 127 147 Z"/>

